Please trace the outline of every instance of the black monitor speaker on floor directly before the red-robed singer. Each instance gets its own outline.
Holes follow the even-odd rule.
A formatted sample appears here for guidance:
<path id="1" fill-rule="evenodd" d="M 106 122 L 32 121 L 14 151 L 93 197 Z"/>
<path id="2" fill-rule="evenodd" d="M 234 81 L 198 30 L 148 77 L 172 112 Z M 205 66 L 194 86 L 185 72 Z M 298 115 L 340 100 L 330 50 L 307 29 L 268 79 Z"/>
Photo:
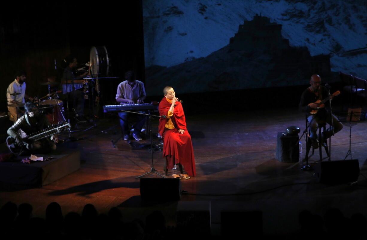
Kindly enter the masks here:
<path id="1" fill-rule="evenodd" d="M 143 202 L 170 202 L 181 198 L 181 182 L 174 178 L 141 178 L 140 196 Z"/>

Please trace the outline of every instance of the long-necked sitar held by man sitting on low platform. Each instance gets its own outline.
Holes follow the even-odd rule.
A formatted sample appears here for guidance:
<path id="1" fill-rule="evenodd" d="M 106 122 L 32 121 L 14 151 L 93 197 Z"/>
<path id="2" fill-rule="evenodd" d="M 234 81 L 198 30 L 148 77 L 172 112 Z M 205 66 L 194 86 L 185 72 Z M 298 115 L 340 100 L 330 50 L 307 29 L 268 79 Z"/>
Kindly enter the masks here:
<path id="1" fill-rule="evenodd" d="M 46 128 L 42 131 L 34 132 L 33 134 L 30 134 L 28 136 L 28 139 L 37 141 L 37 140 L 52 136 L 54 134 L 57 134 L 61 131 L 68 130 L 69 128 L 71 128 L 70 123 L 65 123 L 55 128 Z M 6 139 L 6 145 L 8 146 L 8 149 L 12 153 L 19 154 L 22 152 L 22 149 L 26 144 L 23 141 L 17 142 L 14 138 L 12 138 L 11 136 L 8 136 Z"/>

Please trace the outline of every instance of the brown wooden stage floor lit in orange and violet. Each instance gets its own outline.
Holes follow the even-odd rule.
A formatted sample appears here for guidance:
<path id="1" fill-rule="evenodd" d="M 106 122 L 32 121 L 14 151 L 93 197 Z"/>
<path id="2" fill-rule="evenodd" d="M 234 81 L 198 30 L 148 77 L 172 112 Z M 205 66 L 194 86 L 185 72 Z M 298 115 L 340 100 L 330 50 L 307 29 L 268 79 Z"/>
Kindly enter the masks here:
<path id="1" fill-rule="evenodd" d="M 292 125 L 301 131 L 305 127 L 304 115 L 297 109 L 212 113 L 186 119 L 197 176 L 181 180 L 182 190 L 188 192 L 181 201 L 211 201 L 213 228 L 220 222 L 221 210 L 261 210 L 264 234 L 297 230 L 298 213 L 304 209 L 323 216 L 329 207 L 338 207 L 345 217 L 357 212 L 367 216 L 367 181 L 363 177 L 367 176 L 367 121 L 352 123 L 352 156 L 359 159 L 360 182 L 330 186 L 318 183 L 313 171 L 300 170 L 299 163 L 282 163 L 275 158 L 277 133 Z M 80 170 L 42 188 L 1 191 L 0 205 L 8 201 L 18 205 L 28 202 L 33 206 L 33 215 L 39 217 L 44 217 L 51 202 L 58 202 L 64 215 L 69 211 L 81 213 L 87 203 L 92 203 L 99 213 L 119 206 L 125 221 L 144 218 L 152 209 L 160 209 L 165 212 L 167 223 L 174 224 L 177 203 L 145 207 L 137 200 L 139 180 L 135 177 L 150 170 L 150 152 L 132 149 L 124 140 L 113 148 L 111 139 L 119 136 L 119 127 L 117 135 L 113 131 L 101 133 L 113 124 L 118 124 L 118 120 L 104 119 L 97 128 L 76 134 L 87 137 L 78 141 L 83 147 Z M 156 132 L 157 122 L 153 125 Z M 304 139 L 302 143 L 305 153 Z M 344 159 L 349 149 L 348 122 L 331 143 L 331 159 Z M 163 173 L 161 152 L 153 156 L 155 168 Z M 315 151 L 310 163 L 315 164 L 318 159 Z"/>

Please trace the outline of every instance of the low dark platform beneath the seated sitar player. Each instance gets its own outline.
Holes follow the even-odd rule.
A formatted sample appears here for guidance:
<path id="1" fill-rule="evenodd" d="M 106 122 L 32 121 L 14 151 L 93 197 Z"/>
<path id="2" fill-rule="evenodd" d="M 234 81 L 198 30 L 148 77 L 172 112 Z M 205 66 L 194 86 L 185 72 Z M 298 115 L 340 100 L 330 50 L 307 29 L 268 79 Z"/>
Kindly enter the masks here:
<path id="1" fill-rule="evenodd" d="M 37 157 L 54 157 L 49 161 L 22 163 L 18 156 L 15 162 L 0 163 L 0 182 L 24 187 L 42 187 L 80 168 L 80 149 L 76 144 L 61 144 L 49 154 L 35 154 Z"/>

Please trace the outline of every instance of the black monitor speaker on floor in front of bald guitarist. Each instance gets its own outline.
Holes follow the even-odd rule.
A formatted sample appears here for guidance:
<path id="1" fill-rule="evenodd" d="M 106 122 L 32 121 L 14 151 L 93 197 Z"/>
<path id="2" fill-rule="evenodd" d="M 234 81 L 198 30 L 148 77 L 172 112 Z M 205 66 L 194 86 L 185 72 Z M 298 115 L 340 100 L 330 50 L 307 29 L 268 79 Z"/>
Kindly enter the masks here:
<path id="1" fill-rule="evenodd" d="M 358 179 L 359 162 L 358 159 L 319 162 L 315 166 L 315 175 L 320 183 L 351 183 Z"/>

